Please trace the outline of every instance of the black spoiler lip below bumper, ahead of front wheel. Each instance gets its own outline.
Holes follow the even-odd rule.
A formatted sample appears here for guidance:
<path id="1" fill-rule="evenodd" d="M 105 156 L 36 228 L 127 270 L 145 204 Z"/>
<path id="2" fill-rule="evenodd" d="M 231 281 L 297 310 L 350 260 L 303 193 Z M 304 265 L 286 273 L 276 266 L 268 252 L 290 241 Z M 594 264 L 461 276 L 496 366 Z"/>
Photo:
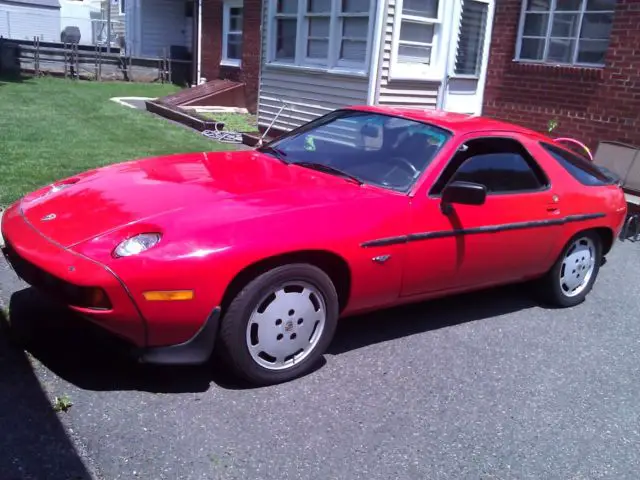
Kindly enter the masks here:
<path id="1" fill-rule="evenodd" d="M 192 338 L 177 345 L 140 349 L 135 352 L 138 361 L 154 365 L 201 365 L 206 363 L 213 352 L 219 325 L 220 307 L 216 307 Z"/>

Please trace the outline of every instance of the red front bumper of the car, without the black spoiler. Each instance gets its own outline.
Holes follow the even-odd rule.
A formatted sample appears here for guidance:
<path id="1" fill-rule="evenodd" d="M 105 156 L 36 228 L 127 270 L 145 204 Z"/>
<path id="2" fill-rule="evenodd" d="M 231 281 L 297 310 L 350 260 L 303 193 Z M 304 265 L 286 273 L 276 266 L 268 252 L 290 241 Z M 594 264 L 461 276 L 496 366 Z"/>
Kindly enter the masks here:
<path id="1" fill-rule="evenodd" d="M 22 217 L 17 205 L 4 212 L 1 231 L 2 251 L 18 276 L 133 345 L 147 345 L 146 323 L 125 285 L 109 268 L 42 236 Z M 102 288 L 109 308 L 74 305 L 74 293 L 86 287 Z"/>

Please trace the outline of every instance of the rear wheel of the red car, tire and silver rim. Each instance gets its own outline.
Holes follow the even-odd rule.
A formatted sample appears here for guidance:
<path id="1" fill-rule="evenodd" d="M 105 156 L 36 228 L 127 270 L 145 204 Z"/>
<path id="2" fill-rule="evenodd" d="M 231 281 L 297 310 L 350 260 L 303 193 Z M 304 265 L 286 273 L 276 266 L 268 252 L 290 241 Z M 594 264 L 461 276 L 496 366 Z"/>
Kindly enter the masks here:
<path id="1" fill-rule="evenodd" d="M 567 242 L 551 270 L 540 279 L 541 299 L 560 308 L 581 304 L 591 292 L 601 264 L 600 235 L 593 231 L 578 233 Z"/>

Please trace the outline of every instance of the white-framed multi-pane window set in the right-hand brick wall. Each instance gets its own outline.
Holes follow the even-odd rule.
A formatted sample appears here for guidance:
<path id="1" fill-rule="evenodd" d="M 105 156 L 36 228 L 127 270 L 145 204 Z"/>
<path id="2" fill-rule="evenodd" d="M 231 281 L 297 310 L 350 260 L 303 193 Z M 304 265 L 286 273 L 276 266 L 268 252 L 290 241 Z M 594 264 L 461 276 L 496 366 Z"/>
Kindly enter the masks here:
<path id="1" fill-rule="evenodd" d="M 516 60 L 604 65 L 616 0 L 523 0 Z"/>

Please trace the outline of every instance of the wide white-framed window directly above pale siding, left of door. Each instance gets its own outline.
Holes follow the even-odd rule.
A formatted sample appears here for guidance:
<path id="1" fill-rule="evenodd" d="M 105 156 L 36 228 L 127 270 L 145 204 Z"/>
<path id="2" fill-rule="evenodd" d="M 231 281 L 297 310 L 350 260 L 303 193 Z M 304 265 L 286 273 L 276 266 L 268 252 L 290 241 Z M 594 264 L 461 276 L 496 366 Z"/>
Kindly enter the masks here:
<path id="1" fill-rule="evenodd" d="M 271 62 L 364 72 L 375 0 L 272 0 Z"/>

